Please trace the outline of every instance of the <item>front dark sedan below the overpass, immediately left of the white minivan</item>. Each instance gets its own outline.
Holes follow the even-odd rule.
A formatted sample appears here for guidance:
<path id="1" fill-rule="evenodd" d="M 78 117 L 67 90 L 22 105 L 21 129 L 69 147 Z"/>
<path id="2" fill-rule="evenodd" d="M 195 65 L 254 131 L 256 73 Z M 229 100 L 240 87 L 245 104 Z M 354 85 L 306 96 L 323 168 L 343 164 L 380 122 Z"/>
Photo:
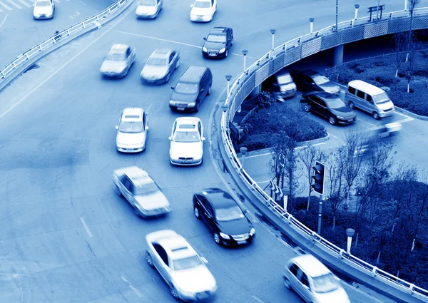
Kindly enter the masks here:
<path id="1" fill-rule="evenodd" d="M 300 100 L 306 112 L 316 113 L 326 118 L 330 124 L 354 123 L 357 115 L 338 96 L 324 91 L 304 93 Z"/>

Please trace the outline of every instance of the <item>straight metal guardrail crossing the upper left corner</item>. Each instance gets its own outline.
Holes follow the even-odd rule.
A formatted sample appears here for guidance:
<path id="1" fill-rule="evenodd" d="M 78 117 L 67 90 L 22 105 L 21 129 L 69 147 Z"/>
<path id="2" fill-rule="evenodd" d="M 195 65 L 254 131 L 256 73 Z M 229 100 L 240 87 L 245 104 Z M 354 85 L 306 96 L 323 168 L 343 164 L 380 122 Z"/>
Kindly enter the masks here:
<path id="1" fill-rule="evenodd" d="M 83 29 L 87 29 L 90 26 L 101 25 L 99 22 L 102 19 L 107 18 L 111 14 L 115 13 L 118 9 L 121 8 L 121 6 L 123 6 L 123 4 L 128 1 L 129 0 L 118 0 L 100 13 L 83 20 L 78 24 L 74 24 L 68 27 L 68 29 L 64 29 L 59 34 L 56 34 L 49 39 L 46 39 L 45 41 L 37 44 L 33 48 L 30 48 L 29 51 L 22 53 L 21 55 L 16 57 L 14 61 L 11 61 L 11 63 L 9 63 L 0 71 L 0 86 L 1 83 L 7 81 L 7 78 L 9 76 L 11 76 L 15 71 L 17 71 L 18 68 L 23 66 L 27 61 L 31 60 L 31 58 L 38 56 L 42 51 L 46 51 L 46 49 L 56 46 L 57 43 L 71 38 L 71 36 L 78 33 L 79 31 L 82 31 Z"/>

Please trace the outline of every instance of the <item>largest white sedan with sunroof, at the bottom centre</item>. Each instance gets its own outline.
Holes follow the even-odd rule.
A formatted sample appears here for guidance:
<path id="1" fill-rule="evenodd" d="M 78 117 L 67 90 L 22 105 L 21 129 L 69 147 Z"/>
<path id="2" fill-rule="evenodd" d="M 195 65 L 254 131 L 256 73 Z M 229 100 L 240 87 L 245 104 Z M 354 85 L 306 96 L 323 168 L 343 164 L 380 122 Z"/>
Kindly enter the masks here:
<path id="1" fill-rule="evenodd" d="M 213 298 L 217 282 L 189 242 L 173 230 L 146 235 L 146 261 L 155 267 L 170 287 L 174 299 L 205 302 Z"/>

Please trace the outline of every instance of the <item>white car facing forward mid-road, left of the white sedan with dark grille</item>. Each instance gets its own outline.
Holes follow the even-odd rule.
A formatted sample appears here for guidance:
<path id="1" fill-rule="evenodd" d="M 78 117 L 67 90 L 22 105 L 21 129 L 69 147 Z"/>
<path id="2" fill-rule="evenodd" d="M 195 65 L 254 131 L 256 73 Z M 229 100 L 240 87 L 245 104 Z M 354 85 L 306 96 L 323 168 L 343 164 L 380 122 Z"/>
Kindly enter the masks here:
<path id="1" fill-rule="evenodd" d="M 123 153 L 138 153 L 146 150 L 148 121 L 143 108 L 125 108 L 116 125 L 116 147 Z"/>

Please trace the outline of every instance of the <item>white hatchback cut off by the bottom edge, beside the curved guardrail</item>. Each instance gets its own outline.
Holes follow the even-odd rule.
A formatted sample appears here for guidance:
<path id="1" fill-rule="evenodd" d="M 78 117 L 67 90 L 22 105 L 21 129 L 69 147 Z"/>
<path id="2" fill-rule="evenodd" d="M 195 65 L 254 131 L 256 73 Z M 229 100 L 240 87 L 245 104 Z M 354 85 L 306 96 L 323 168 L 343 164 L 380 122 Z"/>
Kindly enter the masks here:
<path id="1" fill-rule="evenodd" d="M 308 303 L 350 303 L 350 298 L 330 270 L 312 255 L 294 257 L 283 274 L 285 287 Z"/>

